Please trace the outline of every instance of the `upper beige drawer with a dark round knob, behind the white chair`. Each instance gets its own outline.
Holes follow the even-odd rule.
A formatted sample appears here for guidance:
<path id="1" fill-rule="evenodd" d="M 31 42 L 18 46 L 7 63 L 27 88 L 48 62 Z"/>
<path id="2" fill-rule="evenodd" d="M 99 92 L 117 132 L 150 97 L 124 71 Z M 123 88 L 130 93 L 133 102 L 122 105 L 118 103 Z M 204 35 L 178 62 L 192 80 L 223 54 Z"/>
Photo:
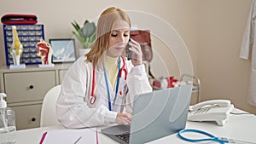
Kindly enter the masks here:
<path id="1" fill-rule="evenodd" d="M 55 71 L 4 73 L 7 102 L 43 101 L 55 86 Z"/>

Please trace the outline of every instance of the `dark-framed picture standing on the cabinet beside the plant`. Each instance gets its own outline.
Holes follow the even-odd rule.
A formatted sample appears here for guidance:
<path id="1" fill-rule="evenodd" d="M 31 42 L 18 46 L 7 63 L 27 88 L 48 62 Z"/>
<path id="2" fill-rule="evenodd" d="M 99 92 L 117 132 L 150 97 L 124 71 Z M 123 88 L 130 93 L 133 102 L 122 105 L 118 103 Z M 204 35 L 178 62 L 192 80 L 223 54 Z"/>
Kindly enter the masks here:
<path id="1" fill-rule="evenodd" d="M 75 41 L 73 38 L 49 39 L 53 50 L 52 62 L 64 63 L 76 60 Z"/>

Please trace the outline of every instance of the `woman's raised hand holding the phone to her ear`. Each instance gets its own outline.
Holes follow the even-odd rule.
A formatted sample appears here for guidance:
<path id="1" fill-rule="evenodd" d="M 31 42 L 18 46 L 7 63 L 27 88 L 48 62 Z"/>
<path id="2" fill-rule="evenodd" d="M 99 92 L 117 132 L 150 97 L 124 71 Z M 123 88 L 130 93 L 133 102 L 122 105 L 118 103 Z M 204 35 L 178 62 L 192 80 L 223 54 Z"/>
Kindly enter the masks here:
<path id="1" fill-rule="evenodd" d="M 131 39 L 129 44 L 131 46 L 129 49 L 132 52 L 131 62 L 133 64 L 133 66 L 142 65 L 143 64 L 143 52 L 142 52 L 141 45 L 133 39 Z"/>

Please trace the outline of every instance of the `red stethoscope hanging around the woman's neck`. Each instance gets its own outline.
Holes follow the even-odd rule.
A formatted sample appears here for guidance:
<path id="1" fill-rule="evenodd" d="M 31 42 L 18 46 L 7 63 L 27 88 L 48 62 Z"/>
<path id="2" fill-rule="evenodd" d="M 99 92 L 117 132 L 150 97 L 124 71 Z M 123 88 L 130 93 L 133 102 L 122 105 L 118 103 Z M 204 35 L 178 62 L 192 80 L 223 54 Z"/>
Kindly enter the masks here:
<path id="1" fill-rule="evenodd" d="M 125 72 L 125 80 L 127 78 L 127 69 L 125 68 L 125 58 L 121 57 L 122 60 L 123 60 L 123 66 L 119 69 L 119 78 L 122 77 L 122 71 Z M 95 76 L 96 76 L 96 67 L 94 66 L 93 67 L 93 72 L 92 72 L 92 86 L 91 86 L 91 94 L 90 94 L 90 104 L 93 105 L 96 101 L 96 95 L 94 94 L 95 92 L 95 83 L 96 83 L 96 79 L 95 79 Z"/>

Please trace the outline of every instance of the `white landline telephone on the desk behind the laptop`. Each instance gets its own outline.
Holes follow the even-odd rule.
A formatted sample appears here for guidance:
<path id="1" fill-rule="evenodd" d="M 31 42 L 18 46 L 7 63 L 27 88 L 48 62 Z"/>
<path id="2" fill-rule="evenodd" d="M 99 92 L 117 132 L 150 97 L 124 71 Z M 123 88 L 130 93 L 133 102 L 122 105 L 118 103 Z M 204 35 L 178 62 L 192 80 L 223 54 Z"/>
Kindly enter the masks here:
<path id="1" fill-rule="evenodd" d="M 230 117 L 234 105 L 229 100 L 203 101 L 189 107 L 189 121 L 215 121 L 223 126 Z"/>

